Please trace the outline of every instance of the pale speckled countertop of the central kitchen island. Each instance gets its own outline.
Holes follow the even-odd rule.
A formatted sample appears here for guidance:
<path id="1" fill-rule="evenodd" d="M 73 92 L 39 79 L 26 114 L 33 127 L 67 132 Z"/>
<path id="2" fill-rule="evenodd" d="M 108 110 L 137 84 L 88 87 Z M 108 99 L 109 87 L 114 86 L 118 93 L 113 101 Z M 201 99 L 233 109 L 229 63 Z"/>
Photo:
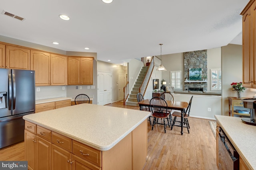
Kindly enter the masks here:
<path id="1" fill-rule="evenodd" d="M 25 115 L 23 119 L 95 149 L 109 150 L 148 116 L 148 111 L 79 104 Z"/>

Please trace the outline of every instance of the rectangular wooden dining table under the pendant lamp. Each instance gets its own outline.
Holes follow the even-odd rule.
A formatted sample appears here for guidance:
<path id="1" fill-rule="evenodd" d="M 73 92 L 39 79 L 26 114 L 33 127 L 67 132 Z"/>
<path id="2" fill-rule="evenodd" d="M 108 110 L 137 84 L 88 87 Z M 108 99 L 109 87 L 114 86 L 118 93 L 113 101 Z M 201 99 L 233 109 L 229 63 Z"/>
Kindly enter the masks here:
<path id="1" fill-rule="evenodd" d="M 145 99 L 140 102 L 138 102 L 139 106 L 146 106 L 150 108 L 150 100 L 151 99 Z M 157 99 L 153 99 L 157 100 Z M 180 110 L 181 112 L 181 135 L 183 135 L 183 113 L 185 112 L 185 109 L 188 107 L 188 102 L 179 102 L 179 101 L 170 101 L 166 100 L 168 109 L 174 109 L 174 110 Z"/>

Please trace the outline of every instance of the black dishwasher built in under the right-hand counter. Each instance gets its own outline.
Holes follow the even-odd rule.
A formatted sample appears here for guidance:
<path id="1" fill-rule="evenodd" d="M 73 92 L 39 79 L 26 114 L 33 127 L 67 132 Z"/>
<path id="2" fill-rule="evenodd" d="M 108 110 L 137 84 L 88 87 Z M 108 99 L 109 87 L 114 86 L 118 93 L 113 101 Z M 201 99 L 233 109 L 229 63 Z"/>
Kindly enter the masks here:
<path id="1" fill-rule="evenodd" d="M 218 128 L 218 169 L 239 170 L 239 154 L 221 127 Z"/>

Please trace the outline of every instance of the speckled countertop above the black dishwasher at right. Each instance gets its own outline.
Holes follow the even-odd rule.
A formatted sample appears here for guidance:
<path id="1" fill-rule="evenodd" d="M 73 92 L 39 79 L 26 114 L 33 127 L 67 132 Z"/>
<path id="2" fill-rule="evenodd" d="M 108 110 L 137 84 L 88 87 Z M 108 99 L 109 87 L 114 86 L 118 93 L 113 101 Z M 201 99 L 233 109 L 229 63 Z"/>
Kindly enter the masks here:
<path id="1" fill-rule="evenodd" d="M 243 123 L 241 117 L 215 118 L 248 168 L 256 170 L 256 126 Z"/>

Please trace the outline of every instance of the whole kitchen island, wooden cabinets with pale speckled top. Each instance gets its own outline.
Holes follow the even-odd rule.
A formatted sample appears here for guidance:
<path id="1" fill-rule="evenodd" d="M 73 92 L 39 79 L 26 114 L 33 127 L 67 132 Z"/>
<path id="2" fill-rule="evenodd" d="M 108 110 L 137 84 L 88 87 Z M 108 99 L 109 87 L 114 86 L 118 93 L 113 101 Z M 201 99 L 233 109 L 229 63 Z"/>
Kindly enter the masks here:
<path id="1" fill-rule="evenodd" d="M 149 115 L 147 111 L 94 104 L 26 115 L 23 119 L 29 169 L 142 169 L 147 156 Z M 45 149 L 40 149 L 46 146 L 40 145 L 42 141 L 48 144 Z"/>

